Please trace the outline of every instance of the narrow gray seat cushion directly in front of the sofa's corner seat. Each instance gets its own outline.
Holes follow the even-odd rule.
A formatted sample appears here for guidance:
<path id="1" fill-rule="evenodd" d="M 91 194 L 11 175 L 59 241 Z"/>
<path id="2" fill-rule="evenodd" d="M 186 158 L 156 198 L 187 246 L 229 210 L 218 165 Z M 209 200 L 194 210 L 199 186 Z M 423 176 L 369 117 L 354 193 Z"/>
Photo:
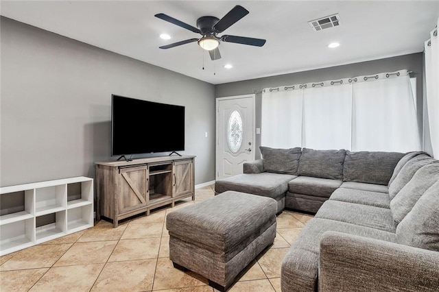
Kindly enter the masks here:
<path id="1" fill-rule="evenodd" d="M 379 208 L 389 208 L 390 206 L 388 193 L 355 190 L 353 188 L 337 188 L 329 199 Z"/>

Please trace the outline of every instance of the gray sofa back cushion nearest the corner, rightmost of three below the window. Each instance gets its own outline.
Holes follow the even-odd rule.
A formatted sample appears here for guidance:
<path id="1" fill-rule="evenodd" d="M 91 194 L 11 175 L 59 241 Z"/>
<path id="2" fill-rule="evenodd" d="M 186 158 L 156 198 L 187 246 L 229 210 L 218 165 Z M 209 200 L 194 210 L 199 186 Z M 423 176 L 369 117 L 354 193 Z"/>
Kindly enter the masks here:
<path id="1" fill-rule="evenodd" d="M 346 151 L 343 180 L 387 186 L 394 168 L 403 156 L 399 152 Z"/>

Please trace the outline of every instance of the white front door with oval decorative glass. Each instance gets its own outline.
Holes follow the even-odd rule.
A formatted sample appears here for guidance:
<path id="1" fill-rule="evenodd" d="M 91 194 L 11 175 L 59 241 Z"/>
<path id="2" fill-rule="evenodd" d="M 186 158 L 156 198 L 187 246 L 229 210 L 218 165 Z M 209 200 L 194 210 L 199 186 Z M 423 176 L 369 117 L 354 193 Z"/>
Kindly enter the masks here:
<path id="1" fill-rule="evenodd" d="M 242 173 L 254 160 L 254 95 L 217 99 L 216 180 Z"/>

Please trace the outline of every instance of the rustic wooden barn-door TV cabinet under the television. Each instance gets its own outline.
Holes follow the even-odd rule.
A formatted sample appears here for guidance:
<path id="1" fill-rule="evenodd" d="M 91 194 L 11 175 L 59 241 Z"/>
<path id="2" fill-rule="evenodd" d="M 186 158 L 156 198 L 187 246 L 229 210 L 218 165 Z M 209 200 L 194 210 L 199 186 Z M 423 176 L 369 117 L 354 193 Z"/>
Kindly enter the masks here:
<path id="1" fill-rule="evenodd" d="M 133 161 L 96 162 L 97 219 L 119 220 L 195 199 L 195 156 L 165 156 Z"/>

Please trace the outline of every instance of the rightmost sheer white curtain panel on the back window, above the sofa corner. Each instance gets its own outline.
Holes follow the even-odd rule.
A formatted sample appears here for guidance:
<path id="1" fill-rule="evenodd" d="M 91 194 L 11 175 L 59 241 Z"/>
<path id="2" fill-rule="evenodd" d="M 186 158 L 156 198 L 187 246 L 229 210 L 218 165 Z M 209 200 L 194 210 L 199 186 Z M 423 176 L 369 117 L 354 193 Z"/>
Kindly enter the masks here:
<path id="1" fill-rule="evenodd" d="M 420 150 L 407 71 L 356 79 L 353 84 L 352 150 Z"/>

